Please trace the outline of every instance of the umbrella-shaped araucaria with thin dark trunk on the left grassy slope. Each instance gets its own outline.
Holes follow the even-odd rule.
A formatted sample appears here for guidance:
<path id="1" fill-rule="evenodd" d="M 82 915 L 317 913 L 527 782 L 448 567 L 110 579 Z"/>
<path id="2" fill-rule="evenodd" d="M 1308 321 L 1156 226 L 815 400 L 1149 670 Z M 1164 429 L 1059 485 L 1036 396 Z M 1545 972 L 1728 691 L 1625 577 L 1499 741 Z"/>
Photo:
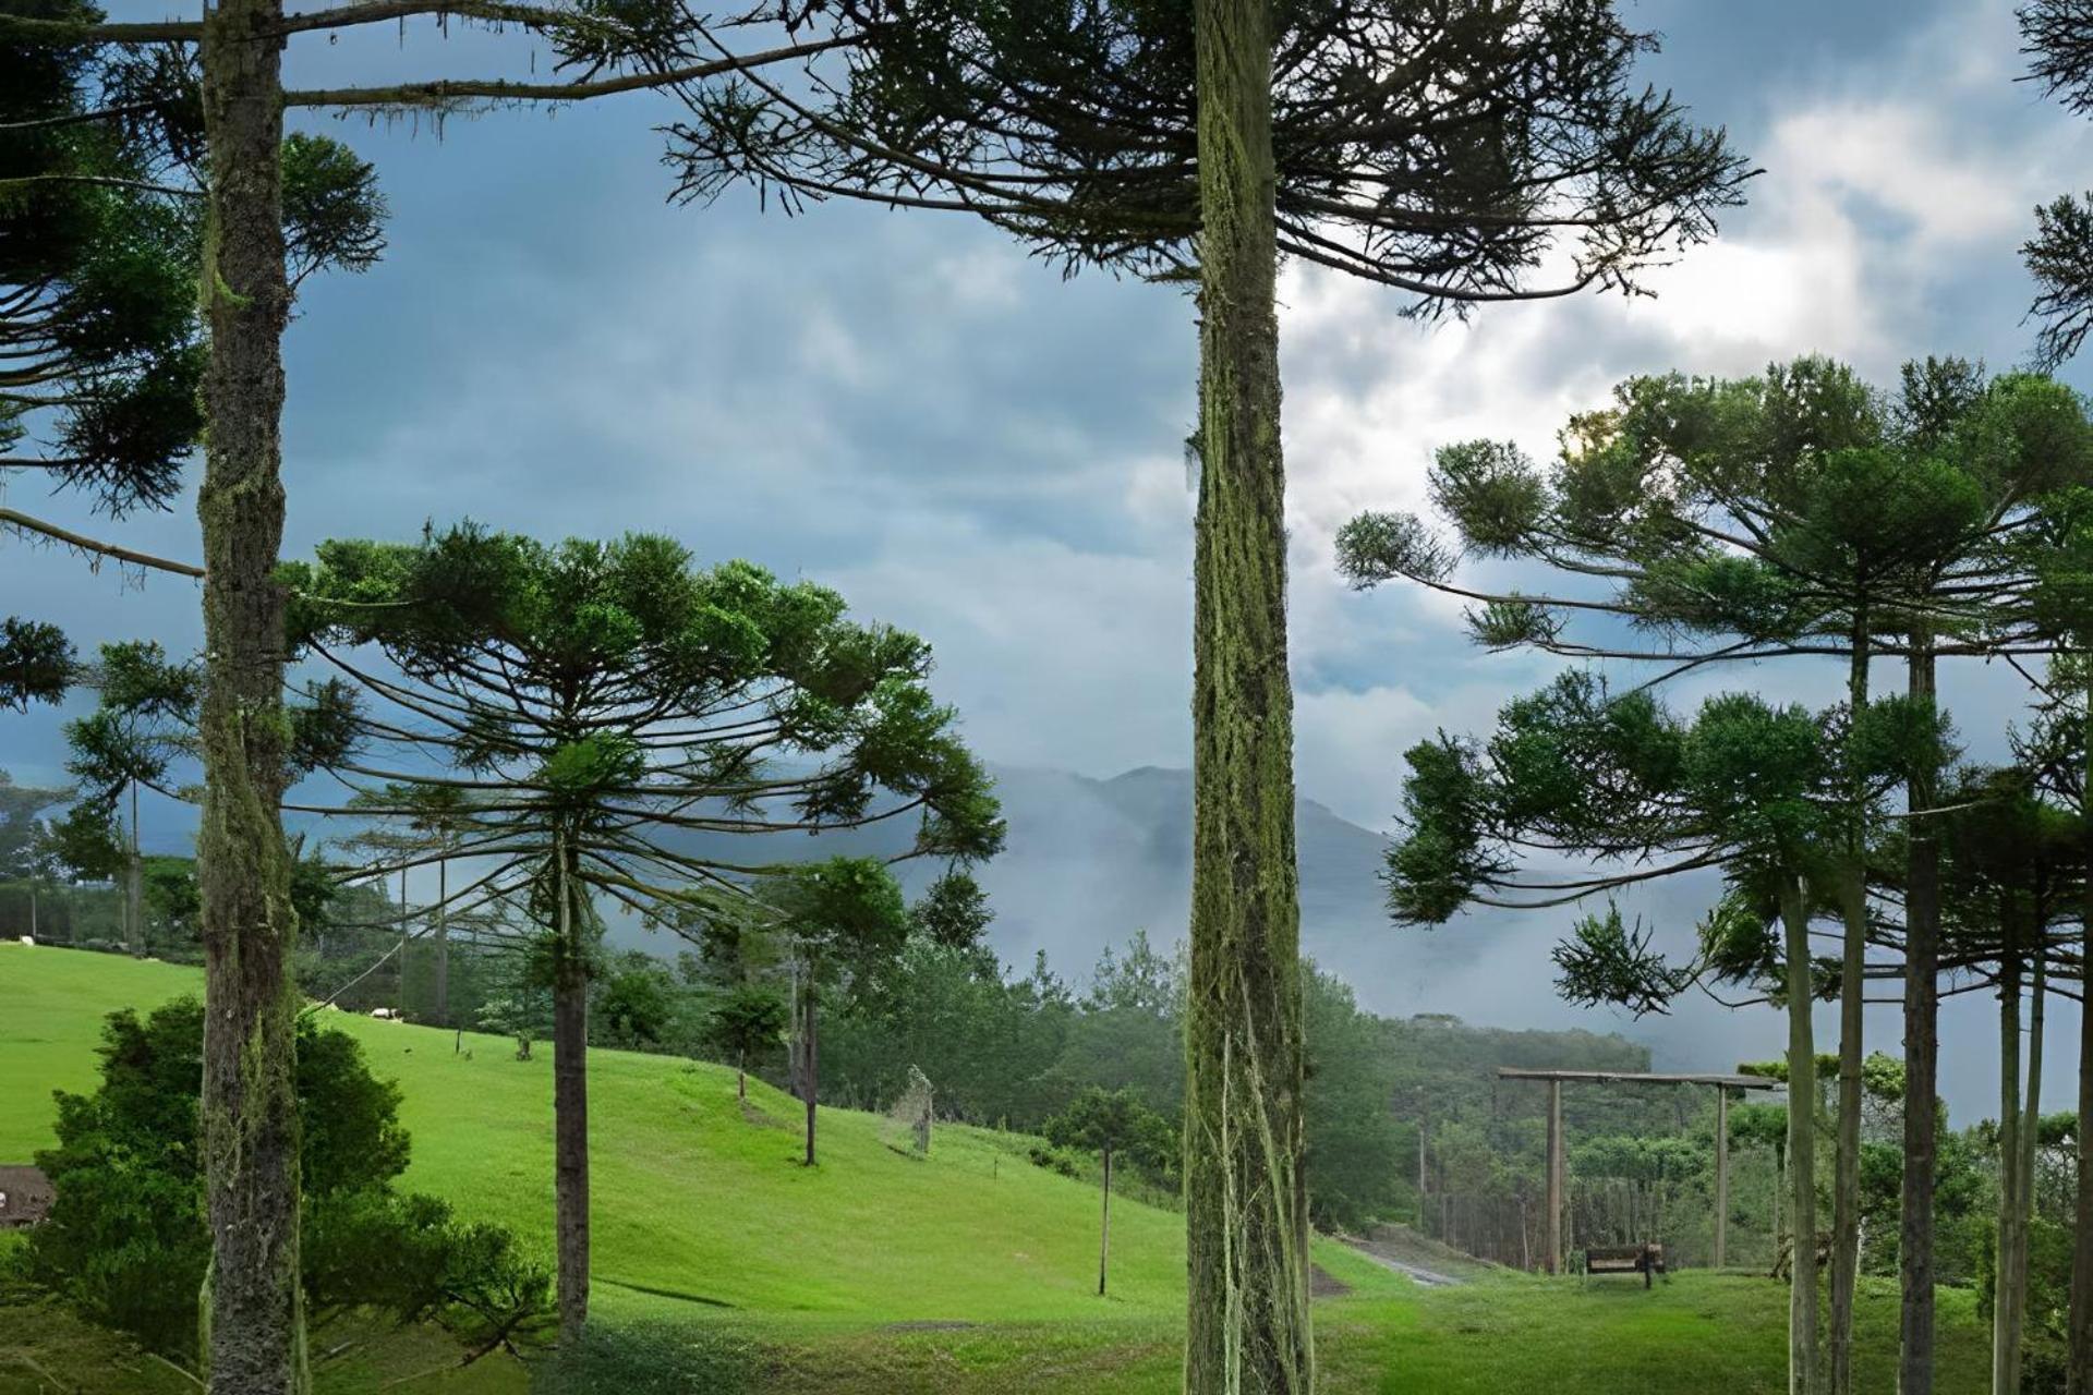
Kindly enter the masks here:
<path id="1" fill-rule="evenodd" d="M 753 885 L 783 874 L 783 849 L 733 845 L 900 822 L 915 830 L 906 855 L 959 868 L 1003 841 L 988 778 L 952 711 L 931 701 L 923 640 L 850 621 L 812 584 L 745 563 L 699 569 L 666 538 L 546 546 L 458 527 L 421 544 L 331 542 L 285 581 L 297 646 L 373 705 L 354 724 L 360 751 L 335 772 L 368 791 L 471 795 L 440 853 L 473 866 L 452 908 L 509 899 L 542 927 L 559 1313 L 571 1339 L 588 1316 L 599 906 L 676 924 L 756 906 L 808 933 L 902 920 L 877 864 L 848 885 L 785 874 L 820 895 L 770 906 Z M 414 822 L 425 801 L 350 811 Z"/>

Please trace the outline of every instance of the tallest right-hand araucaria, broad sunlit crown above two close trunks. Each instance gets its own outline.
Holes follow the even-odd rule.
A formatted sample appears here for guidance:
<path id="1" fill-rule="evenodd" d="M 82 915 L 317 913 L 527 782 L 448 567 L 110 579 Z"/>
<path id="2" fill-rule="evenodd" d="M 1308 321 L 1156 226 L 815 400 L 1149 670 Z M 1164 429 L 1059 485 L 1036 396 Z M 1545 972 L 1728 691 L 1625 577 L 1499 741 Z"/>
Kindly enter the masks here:
<path id="1" fill-rule="evenodd" d="M 1802 358 L 1754 379 L 1645 376 L 1570 420 L 1543 468 L 1515 445 L 1438 452 L 1432 496 L 1459 550 L 1411 514 L 1360 514 L 1340 533 L 1358 586 L 1404 577 L 1476 602 L 1490 648 L 1639 659 L 1679 673 L 1706 663 L 1846 659 L 1846 709 L 1871 703 L 1875 657 L 1900 657 L 1909 696 L 1932 705 L 1942 655 L 2018 655 L 2049 644 L 2018 615 L 2032 581 L 2036 504 L 2093 473 L 2078 399 L 2028 374 L 1986 379 L 1961 360 L 1905 366 L 1898 393 Z M 1540 563 L 1561 592 L 1488 592 L 1457 556 Z M 1576 617 L 1614 617 L 1591 634 Z M 1622 623 L 1624 621 L 1624 623 Z M 1934 807 L 1938 751 L 1913 751 L 1907 805 Z M 1869 887 L 1877 832 L 1859 791 L 1833 857 L 1842 920 L 1840 1090 L 1833 1159 L 1831 1382 L 1852 1378 L 1859 1274 L 1863 1042 L 1861 987 L 1880 901 Z M 1934 1090 L 1938 897 L 1932 822 L 1905 843 L 1907 1060 Z M 1934 1115 L 1907 1111 L 1903 1385 L 1932 1380 Z"/>

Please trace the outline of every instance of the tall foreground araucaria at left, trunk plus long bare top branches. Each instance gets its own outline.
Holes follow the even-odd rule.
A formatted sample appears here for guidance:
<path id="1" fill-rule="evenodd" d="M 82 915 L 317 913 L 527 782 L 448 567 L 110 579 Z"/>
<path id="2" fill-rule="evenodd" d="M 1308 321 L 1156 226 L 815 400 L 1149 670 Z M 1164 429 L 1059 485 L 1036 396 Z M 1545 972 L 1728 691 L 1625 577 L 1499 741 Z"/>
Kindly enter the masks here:
<path id="1" fill-rule="evenodd" d="M 557 73 L 444 77 L 324 90 L 287 90 L 291 40 L 327 42 L 360 25 L 486 23 L 553 50 Z M 283 1395 L 310 1385 L 297 1295 L 297 1111 L 291 1092 L 295 916 L 283 797 L 283 619 L 274 579 L 283 540 L 283 335 L 295 284 L 285 236 L 293 192 L 285 113 L 473 113 L 496 105 L 573 102 L 674 88 L 806 54 L 854 36 L 800 38 L 806 13 L 697 15 L 680 4 L 588 0 L 352 0 L 285 13 L 283 0 L 224 0 L 203 19 L 107 23 L 92 6 L 42 0 L 0 10 L 0 44 L 15 54 L 138 54 L 147 92 L 107 88 L 98 102 L 59 111 L 67 130 L 117 130 L 174 113 L 203 174 L 201 274 L 207 420 L 203 485 L 205 692 L 201 751 L 205 809 L 197 843 L 205 924 L 203 1123 L 211 1211 L 213 1395 Z M 728 54 L 720 36 L 781 19 L 783 46 Z M 747 29 L 739 29 L 747 31 Z M 521 59 L 521 54 L 519 54 Z M 117 67 L 121 59 L 111 59 Z M 515 65 L 523 69 L 523 63 Z M 532 71 L 536 59 L 532 59 Z M 167 100 L 167 88 L 186 96 Z M 13 88 L 8 90 L 13 94 Z M 52 113 L 8 119 L 4 134 L 46 128 Z M 4 222 L 13 224 L 8 207 Z"/>

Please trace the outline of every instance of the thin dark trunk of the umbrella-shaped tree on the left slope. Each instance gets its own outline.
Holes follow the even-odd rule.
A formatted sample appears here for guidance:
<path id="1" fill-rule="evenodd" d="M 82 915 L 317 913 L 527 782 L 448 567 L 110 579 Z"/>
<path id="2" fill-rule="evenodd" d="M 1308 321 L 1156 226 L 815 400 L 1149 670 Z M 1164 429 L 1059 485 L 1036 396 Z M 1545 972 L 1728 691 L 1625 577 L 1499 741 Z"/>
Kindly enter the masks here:
<path id="1" fill-rule="evenodd" d="M 588 962 L 567 843 L 559 845 L 559 956 L 553 968 L 553 1177 L 559 1341 L 588 1326 Z"/>

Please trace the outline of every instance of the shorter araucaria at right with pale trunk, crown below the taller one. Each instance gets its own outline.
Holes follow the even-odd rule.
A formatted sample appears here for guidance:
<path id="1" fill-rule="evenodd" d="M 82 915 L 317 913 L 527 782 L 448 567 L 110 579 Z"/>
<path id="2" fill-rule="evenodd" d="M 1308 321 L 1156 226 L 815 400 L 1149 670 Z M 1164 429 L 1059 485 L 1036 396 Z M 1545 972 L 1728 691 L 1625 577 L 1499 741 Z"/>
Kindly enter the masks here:
<path id="1" fill-rule="evenodd" d="M 1409 751 L 1404 837 L 1388 855 L 1390 908 L 1438 924 L 1463 906 L 1563 906 L 1658 876 L 1720 868 L 1729 895 L 1708 918 L 1704 968 L 1760 985 L 1787 1008 L 1790 1389 L 1815 1395 L 1819 1362 L 1815 1117 L 1817 979 L 1810 920 L 1838 904 L 1848 801 L 1896 782 L 1911 747 L 1938 742 L 1930 713 L 1884 701 L 1863 713 L 1775 709 L 1723 694 L 1687 724 L 1647 690 L 1610 696 L 1566 673 L 1515 701 L 1486 740 L 1440 736 Z M 1586 864 L 1586 874 L 1534 860 Z M 1620 920 L 1612 927 L 1622 941 Z M 1777 927 L 1777 937 L 1775 929 Z M 1653 1004 L 1691 975 L 1599 931 L 1557 962 L 1582 998 Z"/>

